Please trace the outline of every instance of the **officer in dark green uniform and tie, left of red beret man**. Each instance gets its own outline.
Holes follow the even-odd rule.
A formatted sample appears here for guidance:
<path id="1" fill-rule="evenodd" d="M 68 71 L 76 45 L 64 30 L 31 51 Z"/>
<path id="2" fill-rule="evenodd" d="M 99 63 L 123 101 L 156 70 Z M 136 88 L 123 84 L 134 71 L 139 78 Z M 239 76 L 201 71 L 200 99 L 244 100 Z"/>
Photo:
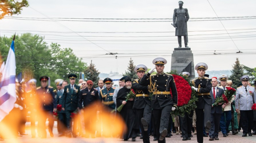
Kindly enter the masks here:
<path id="1" fill-rule="evenodd" d="M 66 113 L 68 137 L 71 138 L 71 132 L 72 132 L 71 113 L 73 113 L 78 108 L 78 94 L 80 92 L 80 86 L 75 84 L 77 75 L 70 74 L 68 75 L 68 78 L 69 78 L 70 84 L 64 87 L 63 110 L 65 110 L 65 113 Z M 72 132 L 73 137 L 77 137 L 76 125 L 77 125 L 77 122 L 76 120 L 74 120 L 74 126 L 73 126 L 73 132 Z"/>

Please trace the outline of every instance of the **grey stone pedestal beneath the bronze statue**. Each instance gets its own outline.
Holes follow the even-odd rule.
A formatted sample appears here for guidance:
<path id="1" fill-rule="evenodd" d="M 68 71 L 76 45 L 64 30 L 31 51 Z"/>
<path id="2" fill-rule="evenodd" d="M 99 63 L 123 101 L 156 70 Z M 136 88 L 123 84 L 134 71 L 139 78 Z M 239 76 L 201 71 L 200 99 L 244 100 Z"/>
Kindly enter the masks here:
<path id="1" fill-rule="evenodd" d="M 191 79 L 195 78 L 194 57 L 190 48 L 174 48 L 171 54 L 171 70 L 177 70 L 177 73 L 181 73 L 191 63 L 191 69 L 189 72 Z"/>

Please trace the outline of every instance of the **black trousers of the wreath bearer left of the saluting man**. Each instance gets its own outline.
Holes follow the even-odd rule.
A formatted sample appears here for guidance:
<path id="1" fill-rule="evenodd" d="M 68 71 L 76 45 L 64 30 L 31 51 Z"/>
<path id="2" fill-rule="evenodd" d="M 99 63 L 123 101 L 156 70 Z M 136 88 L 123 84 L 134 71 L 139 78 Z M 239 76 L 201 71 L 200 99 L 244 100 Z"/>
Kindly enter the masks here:
<path id="1" fill-rule="evenodd" d="M 136 114 L 137 116 L 139 117 L 139 123 L 140 123 L 140 126 L 141 126 L 141 134 L 143 136 L 143 143 L 149 143 L 149 134 L 148 134 L 148 131 L 144 131 L 143 129 L 143 125 L 141 123 L 141 118 L 145 118 L 148 125 L 150 123 L 150 118 L 151 118 L 151 107 L 146 104 L 145 108 L 143 109 L 136 109 Z"/>

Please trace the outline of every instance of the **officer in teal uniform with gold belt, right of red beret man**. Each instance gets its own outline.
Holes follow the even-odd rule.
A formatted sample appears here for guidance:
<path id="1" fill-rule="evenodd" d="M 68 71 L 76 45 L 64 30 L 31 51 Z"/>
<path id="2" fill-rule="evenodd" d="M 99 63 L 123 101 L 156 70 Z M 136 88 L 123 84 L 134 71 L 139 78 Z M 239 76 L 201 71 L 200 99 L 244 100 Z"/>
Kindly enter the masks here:
<path id="1" fill-rule="evenodd" d="M 105 78 L 103 81 L 106 85 L 106 88 L 100 90 L 100 99 L 102 100 L 102 104 L 106 105 L 107 107 L 110 108 L 110 110 L 115 109 L 115 103 L 113 101 L 113 95 L 115 89 L 111 87 L 112 79 L 110 78 Z"/>

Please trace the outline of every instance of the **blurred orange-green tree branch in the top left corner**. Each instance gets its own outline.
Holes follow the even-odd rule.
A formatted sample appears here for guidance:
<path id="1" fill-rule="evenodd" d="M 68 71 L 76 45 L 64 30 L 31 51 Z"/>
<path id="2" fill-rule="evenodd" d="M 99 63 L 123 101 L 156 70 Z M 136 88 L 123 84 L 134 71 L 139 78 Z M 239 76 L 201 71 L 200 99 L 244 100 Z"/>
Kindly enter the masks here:
<path id="1" fill-rule="evenodd" d="M 0 19 L 5 15 L 21 14 L 23 7 L 28 7 L 27 0 L 0 0 Z"/>

